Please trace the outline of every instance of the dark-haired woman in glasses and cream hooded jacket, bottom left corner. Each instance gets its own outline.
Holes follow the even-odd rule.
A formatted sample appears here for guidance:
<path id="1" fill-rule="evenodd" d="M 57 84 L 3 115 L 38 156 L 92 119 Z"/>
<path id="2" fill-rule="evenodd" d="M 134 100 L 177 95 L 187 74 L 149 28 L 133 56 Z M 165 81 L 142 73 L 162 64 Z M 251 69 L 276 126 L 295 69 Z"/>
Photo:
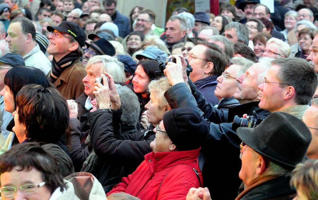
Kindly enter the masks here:
<path id="1" fill-rule="evenodd" d="M 91 174 L 72 174 L 63 180 L 54 156 L 36 142 L 13 146 L 1 156 L 0 166 L 3 200 L 106 199 L 102 186 Z M 85 187 L 79 182 L 86 183 Z"/>

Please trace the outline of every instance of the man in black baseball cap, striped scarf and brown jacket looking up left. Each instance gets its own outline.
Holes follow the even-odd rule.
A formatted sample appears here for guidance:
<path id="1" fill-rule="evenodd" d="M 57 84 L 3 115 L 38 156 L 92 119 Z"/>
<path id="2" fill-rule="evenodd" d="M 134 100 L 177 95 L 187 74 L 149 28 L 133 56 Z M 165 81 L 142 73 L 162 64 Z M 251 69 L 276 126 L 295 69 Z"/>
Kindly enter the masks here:
<path id="1" fill-rule="evenodd" d="M 75 100 L 84 92 L 82 79 L 86 72 L 79 58 L 83 55 L 86 34 L 79 25 L 68 21 L 48 26 L 47 30 L 52 33 L 47 52 L 53 55 L 48 78 L 65 99 Z"/>

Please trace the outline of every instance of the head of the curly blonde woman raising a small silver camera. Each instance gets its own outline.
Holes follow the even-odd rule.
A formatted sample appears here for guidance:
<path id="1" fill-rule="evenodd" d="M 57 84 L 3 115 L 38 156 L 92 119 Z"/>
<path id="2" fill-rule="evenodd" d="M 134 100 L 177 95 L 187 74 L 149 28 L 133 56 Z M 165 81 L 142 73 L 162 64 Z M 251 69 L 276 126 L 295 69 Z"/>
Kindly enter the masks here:
<path id="1" fill-rule="evenodd" d="M 169 106 L 168 101 L 164 97 L 164 93 L 170 88 L 171 85 L 167 77 L 162 77 L 160 79 L 150 81 L 148 85 L 148 90 L 150 94 L 155 95 L 156 100 L 158 100 L 159 108 Z"/>

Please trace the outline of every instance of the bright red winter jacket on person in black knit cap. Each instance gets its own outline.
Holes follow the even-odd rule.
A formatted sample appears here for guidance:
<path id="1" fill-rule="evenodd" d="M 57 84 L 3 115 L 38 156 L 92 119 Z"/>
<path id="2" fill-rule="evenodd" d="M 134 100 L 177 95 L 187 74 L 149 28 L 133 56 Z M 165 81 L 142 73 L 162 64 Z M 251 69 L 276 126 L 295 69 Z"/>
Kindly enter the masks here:
<path id="1" fill-rule="evenodd" d="M 200 187 L 199 179 L 193 170 L 199 172 L 201 184 L 203 178 L 197 157 L 200 149 L 191 151 L 148 153 L 145 160 L 134 173 L 121 179 L 107 193 L 125 192 L 141 200 L 184 200 L 191 187 Z"/>

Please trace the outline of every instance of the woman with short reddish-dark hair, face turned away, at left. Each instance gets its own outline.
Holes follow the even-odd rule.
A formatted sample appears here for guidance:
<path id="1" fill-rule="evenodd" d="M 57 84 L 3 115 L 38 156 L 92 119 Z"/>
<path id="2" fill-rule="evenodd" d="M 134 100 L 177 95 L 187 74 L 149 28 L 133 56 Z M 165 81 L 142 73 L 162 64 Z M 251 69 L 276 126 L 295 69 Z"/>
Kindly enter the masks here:
<path id="1" fill-rule="evenodd" d="M 12 131 L 19 143 L 52 143 L 68 153 L 60 138 L 67 129 L 69 111 L 66 101 L 56 89 L 35 84 L 24 86 L 16 96 L 16 110 L 12 115 Z M 6 144 L 10 140 L 8 137 Z"/>

